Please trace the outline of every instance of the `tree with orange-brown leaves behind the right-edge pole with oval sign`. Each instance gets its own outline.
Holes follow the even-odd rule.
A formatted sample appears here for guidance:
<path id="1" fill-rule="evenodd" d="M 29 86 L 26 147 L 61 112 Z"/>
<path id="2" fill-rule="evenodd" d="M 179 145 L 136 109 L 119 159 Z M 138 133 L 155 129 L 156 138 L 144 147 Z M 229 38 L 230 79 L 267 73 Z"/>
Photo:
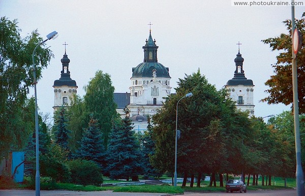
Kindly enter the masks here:
<path id="1" fill-rule="evenodd" d="M 297 53 L 297 80 L 298 80 L 298 101 L 299 113 L 305 113 L 305 13 L 300 20 L 295 21 L 296 28 L 303 35 L 303 46 Z M 293 103 L 292 92 L 292 47 L 291 47 L 291 20 L 284 21 L 287 26 L 288 34 L 281 34 L 279 37 L 262 40 L 263 43 L 269 44 L 273 51 L 279 51 L 277 63 L 272 65 L 275 75 L 271 76 L 265 82 L 270 88 L 266 90 L 269 96 L 262 101 L 268 104 L 283 103 L 289 105 Z"/>

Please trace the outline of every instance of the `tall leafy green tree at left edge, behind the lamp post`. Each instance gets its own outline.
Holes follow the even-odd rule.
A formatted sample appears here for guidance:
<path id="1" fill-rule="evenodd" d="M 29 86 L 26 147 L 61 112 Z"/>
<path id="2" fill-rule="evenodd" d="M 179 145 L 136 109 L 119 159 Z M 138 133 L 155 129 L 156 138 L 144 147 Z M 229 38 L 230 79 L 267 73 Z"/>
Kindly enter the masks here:
<path id="1" fill-rule="evenodd" d="M 21 38 L 17 20 L 0 19 L 0 157 L 8 156 L 10 148 L 21 149 L 35 128 L 34 108 L 28 108 L 27 93 L 33 86 L 32 53 L 43 41 L 38 30 Z M 36 51 L 36 74 L 47 67 L 53 57 L 42 44 Z"/>

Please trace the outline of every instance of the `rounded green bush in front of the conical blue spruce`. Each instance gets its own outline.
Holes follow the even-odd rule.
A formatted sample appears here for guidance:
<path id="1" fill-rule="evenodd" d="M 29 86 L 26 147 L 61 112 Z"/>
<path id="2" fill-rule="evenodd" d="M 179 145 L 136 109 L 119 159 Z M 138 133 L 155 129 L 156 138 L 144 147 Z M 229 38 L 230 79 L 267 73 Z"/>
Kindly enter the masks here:
<path id="1" fill-rule="evenodd" d="M 71 171 L 71 182 L 82 185 L 100 185 L 103 183 L 102 171 L 90 160 L 75 159 L 68 161 Z"/>

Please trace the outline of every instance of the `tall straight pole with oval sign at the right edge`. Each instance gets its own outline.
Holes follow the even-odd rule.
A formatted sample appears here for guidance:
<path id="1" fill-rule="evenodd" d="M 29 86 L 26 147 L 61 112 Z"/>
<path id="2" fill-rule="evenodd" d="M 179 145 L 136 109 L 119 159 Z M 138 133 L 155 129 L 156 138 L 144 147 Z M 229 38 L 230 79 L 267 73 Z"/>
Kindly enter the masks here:
<path id="1" fill-rule="evenodd" d="M 297 67 L 296 54 L 301 46 L 299 42 L 299 34 L 295 30 L 294 22 L 294 0 L 291 1 L 291 35 L 292 35 L 292 92 L 293 92 L 293 119 L 294 119 L 294 140 L 295 140 L 295 154 L 296 154 L 296 193 L 298 196 L 305 195 L 304 190 L 304 174 L 301 164 L 301 143 L 299 130 L 299 113 L 298 113 L 298 93 L 297 93 Z M 296 33 L 295 33 L 296 31 Z"/>

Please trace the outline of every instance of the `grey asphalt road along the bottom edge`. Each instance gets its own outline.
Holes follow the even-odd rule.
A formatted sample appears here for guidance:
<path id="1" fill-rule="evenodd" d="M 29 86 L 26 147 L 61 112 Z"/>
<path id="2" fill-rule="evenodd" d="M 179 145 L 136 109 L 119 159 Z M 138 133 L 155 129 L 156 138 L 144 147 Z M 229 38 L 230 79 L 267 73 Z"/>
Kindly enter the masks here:
<path id="1" fill-rule="evenodd" d="M 41 196 L 55 196 L 55 195 L 101 195 L 101 196 L 157 196 L 157 195 L 171 195 L 167 193 L 135 193 L 135 192 L 112 192 L 111 190 L 106 191 L 68 191 L 68 190 L 41 190 Z M 35 190 L 0 190 L 1 196 L 33 196 Z M 182 195 L 182 194 L 180 194 Z M 252 196 L 294 196 L 296 190 L 263 190 L 263 191 L 248 191 L 247 193 L 239 192 L 212 192 L 212 193 L 192 193 L 185 192 L 186 196 L 241 196 L 241 195 L 252 195 Z"/>

